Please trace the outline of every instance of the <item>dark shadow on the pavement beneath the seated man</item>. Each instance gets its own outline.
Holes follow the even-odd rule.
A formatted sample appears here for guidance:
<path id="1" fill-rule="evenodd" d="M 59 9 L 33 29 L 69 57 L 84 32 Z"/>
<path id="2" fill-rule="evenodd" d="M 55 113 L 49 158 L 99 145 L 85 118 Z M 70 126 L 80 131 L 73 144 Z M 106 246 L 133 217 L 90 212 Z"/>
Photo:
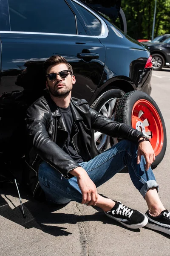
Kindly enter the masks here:
<path id="1" fill-rule="evenodd" d="M 33 198 L 30 198 L 25 190 L 20 188 L 20 194 L 23 201 L 25 199 L 28 200 L 23 203 L 23 208 L 26 213 L 26 218 L 23 218 L 20 205 L 16 206 L 16 204 L 18 205 L 19 198 L 14 184 L 6 184 L 5 187 L 0 189 L 0 194 L 5 195 L 5 198 L 9 201 L 8 203 L 2 196 L 0 196 L 0 215 L 25 227 L 26 229 L 37 228 L 52 236 L 68 236 L 72 233 L 66 231 L 66 228 L 62 227 L 62 224 L 77 224 L 77 222 L 84 221 L 102 221 L 103 224 L 112 224 L 114 226 L 119 226 L 122 229 L 129 230 L 118 222 L 108 218 L 98 207 L 93 206 L 97 212 L 91 215 L 75 215 L 64 212 L 61 213 L 57 212 L 57 210 L 62 209 L 66 206 L 66 204 L 50 205 L 46 202 L 36 201 Z M 11 196 L 14 197 L 14 201 L 10 199 Z M 140 229 L 130 231 L 140 232 Z M 164 233 L 158 233 L 170 238 L 170 236 Z"/>

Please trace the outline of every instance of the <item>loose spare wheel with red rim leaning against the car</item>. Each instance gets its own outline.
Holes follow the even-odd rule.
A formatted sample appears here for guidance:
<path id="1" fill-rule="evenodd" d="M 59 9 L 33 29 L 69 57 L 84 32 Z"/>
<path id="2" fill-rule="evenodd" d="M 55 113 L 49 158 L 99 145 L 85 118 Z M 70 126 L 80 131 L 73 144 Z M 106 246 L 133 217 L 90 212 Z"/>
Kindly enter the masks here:
<path id="1" fill-rule="evenodd" d="M 150 143 L 156 156 L 151 167 L 156 168 L 163 159 L 167 147 L 164 119 L 156 102 L 144 92 L 126 93 L 117 104 L 115 120 L 150 136 Z"/>

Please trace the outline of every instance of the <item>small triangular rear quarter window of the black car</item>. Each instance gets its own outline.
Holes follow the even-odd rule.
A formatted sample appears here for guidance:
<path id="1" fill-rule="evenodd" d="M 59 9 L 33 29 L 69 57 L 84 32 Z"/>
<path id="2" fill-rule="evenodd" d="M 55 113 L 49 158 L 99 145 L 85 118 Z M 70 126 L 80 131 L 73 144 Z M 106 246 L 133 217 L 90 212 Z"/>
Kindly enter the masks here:
<path id="1" fill-rule="evenodd" d="M 91 12 L 87 9 L 83 8 L 79 4 L 74 2 L 74 5 L 78 9 L 80 15 L 82 16 L 83 20 L 85 21 L 88 29 L 90 30 L 92 35 L 100 35 L 102 31 L 102 25 L 100 21 L 94 16 Z"/>

